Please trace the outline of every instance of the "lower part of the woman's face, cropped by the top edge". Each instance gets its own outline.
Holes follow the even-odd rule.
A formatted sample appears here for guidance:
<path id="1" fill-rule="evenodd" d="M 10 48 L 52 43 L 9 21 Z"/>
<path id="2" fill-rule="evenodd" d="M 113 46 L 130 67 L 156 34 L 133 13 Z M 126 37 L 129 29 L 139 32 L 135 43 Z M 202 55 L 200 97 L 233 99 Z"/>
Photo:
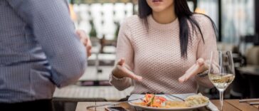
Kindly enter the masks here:
<path id="1" fill-rule="evenodd" d="M 146 0 L 152 11 L 161 12 L 171 8 L 174 5 L 174 0 Z"/>

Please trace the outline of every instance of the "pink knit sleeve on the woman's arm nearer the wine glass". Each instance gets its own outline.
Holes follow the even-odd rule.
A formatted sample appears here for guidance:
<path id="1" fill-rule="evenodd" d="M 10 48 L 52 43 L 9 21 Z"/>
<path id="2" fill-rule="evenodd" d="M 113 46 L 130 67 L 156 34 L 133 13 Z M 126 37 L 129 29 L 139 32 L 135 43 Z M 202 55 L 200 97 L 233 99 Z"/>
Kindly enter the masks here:
<path id="1" fill-rule="evenodd" d="M 199 16 L 199 23 L 201 26 L 201 33 L 203 34 L 204 42 L 200 37 L 197 50 L 197 59 L 203 58 L 206 63 L 208 63 L 211 57 L 211 51 L 217 51 L 216 33 L 214 33 L 210 19 L 206 16 Z M 204 78 L 197 77 L 196 79 L 200 85 L 203 85 L 206 88 L 213 88 L 213 84 L 208 79 L 208 76 Z"/>

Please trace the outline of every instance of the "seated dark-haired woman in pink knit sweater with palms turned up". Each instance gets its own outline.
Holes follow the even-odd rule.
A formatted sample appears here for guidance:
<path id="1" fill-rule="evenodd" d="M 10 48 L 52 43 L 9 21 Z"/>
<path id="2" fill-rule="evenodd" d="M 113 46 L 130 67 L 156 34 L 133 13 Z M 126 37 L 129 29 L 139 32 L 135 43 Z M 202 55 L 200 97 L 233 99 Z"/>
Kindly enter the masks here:
<path id="1" fill-rule="evenodd" d="M 216 30 L 208 16 L 194 14 L 186 0 L 139 0 L 139 16 L 122 23 L 117 64 L 110 83 L 132 93 L 196 93 L 197 83 L 213 87 L 206 70 L 216 51 Z"/>

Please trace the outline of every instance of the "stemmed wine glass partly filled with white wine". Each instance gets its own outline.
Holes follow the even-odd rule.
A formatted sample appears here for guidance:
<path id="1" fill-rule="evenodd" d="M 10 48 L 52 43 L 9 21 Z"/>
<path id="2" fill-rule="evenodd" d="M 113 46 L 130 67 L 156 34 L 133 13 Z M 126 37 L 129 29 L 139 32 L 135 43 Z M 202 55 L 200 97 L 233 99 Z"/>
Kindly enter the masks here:
<path id="1" fill-rule="evenodd" d="M 223 92 L 235 78 L 235 69 L 231 51 L 211 52 L 208 78 L 220 93 L 221 110 L 223 110 Z"/>

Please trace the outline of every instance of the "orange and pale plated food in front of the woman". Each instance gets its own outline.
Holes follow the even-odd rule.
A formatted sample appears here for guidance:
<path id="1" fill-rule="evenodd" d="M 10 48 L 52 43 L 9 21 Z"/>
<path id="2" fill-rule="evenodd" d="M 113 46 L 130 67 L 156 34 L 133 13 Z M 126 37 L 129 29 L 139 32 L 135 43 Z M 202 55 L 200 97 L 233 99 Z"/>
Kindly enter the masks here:
<path id="1" fill-rule="evenodd" d="M 140 102 L 133 102 L 134 105 L 141 105 L 143 107 L 157 107 L 157 108 L 184 108 L 196 107 L 199 105 L 208 104 L 208 97 L 203 95 L 191 95 L 186 97 L 184 101 L 169 100 L 161 95 L 146 94 L 144 99 Z"/>

